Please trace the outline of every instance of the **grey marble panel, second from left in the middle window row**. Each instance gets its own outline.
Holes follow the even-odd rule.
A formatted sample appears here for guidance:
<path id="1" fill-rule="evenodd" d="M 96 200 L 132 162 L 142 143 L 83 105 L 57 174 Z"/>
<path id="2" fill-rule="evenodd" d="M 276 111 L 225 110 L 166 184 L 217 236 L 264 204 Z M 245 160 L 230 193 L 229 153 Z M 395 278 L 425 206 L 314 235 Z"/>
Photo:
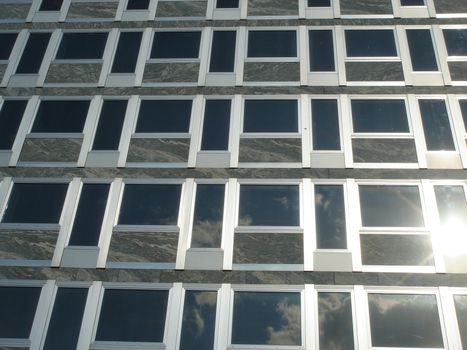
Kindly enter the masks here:
<path id="1" fill-rule="evenodd" d="M 130 141 L 127 162 L 187 162 L 189 150 L 190 139 L 133 138 Z"/>

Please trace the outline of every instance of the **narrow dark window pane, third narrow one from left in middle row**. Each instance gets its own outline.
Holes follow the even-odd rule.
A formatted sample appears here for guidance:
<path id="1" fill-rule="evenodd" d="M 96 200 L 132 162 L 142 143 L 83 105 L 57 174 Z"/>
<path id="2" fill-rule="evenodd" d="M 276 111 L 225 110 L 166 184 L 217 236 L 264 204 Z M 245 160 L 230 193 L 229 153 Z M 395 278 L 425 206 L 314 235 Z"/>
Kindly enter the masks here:
<path id="1" fill-rule="evenodd" d="M 226 151 L 229 148 L 231 100 L 208 100 L 204 109 L 201 150 Z"/>

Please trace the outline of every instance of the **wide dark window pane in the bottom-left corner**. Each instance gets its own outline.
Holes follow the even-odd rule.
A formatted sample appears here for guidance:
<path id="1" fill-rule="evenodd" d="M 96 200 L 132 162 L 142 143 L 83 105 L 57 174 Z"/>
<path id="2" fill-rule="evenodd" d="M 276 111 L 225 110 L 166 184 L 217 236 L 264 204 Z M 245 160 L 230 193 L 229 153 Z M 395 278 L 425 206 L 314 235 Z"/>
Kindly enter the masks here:
<path id="1" fill-rule="evenodd" d="M 39 287 L 0 287 L 0 338 L 29 338 L 40 294 Z"/>

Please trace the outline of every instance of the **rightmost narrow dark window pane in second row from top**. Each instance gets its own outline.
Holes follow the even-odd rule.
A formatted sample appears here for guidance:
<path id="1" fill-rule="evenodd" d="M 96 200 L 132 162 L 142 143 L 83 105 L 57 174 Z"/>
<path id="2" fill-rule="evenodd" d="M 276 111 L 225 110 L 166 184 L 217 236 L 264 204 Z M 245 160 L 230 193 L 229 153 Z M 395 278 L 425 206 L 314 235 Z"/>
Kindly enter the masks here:
<path id="1" fill-rule="evenodd" d="M 410 59 L 414 71 L 437 71 L 435 48 L 431 40 L 429 29 L 407 30 L 409 41 Z"/>

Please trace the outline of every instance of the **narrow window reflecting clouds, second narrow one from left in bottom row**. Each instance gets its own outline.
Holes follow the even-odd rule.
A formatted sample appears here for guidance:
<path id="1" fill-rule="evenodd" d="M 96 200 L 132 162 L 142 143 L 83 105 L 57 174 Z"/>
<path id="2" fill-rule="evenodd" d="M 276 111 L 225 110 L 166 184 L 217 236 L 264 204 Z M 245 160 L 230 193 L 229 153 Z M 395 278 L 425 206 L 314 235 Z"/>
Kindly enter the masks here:
<path id="1" fill-rule="evenodd" d="M 217 292 L 186 291 L 179 350 L 213 350 Z"/>

